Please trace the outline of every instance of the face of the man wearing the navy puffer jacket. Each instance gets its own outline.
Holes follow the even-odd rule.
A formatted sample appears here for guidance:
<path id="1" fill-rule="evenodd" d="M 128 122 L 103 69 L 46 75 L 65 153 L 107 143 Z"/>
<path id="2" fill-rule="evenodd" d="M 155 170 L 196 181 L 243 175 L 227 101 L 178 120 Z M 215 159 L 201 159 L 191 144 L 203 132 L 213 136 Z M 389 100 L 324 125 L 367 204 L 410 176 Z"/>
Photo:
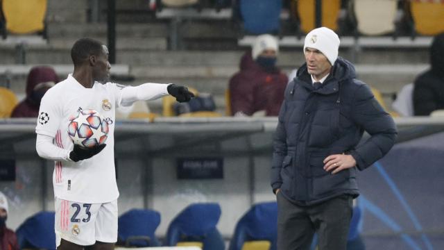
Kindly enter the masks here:
<path id="1" fill-rule="evenodd" d="M 330 73 L 332 65 L 321 51 L 307 47 L 305 48 L 304 55 L 308 73 L 313 75 L 316 80 L 320 80 Z"/>

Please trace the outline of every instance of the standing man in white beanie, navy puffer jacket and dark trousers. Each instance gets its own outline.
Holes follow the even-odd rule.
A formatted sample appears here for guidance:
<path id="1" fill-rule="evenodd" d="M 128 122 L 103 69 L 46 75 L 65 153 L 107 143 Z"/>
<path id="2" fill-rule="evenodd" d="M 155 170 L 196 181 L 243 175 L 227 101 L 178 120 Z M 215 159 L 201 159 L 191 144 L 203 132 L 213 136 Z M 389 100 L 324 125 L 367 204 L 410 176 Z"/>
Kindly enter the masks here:
<path id="1" fill-rule="evenodd" d="M 271 188 L 278 201 L 278 249 L 346 249 L 357 170 L 395 143 L 395 122 L 338 57 L 329 28 L 305 37 L 305 64 L 287 85 L 273 136 Z M 370 137 L 363 143 L 366 131 Z"/>

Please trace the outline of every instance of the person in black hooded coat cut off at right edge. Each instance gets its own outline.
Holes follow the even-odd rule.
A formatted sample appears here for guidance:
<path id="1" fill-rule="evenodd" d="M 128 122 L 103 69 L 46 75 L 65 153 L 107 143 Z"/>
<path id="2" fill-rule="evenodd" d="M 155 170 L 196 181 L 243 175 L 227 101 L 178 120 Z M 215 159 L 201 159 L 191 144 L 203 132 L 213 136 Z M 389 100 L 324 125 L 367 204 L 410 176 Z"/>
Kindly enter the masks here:
<path id="1" fill-rule="evenodd" d="M 435 36 L 429 53 L 431 68 L 413 83 L 414 115 L 444 109 L 444 33 Z"/>

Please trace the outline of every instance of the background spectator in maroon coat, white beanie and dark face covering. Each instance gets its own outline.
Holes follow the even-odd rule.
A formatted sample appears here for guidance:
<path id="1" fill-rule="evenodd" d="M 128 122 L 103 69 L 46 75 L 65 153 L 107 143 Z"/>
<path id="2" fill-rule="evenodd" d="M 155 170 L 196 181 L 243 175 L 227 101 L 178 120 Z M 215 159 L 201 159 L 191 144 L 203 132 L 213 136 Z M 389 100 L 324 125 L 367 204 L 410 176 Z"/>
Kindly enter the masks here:
<path id="1" fill-rule="evenodd" d="M 252 51 L 241 58 L 240 71 L 230 79 L 230 107 L 234 116 L 265 113 L 277 116 L 288 78 L 276 67 L 278 41 L 259 35 Z"/>

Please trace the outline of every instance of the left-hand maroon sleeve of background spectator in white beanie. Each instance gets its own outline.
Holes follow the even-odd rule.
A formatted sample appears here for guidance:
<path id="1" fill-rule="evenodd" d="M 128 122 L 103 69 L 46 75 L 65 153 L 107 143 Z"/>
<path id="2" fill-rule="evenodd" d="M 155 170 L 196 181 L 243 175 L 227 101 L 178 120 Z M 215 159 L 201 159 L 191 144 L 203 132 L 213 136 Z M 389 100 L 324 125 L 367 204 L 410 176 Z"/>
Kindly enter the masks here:
<path id="1" fill-rule="evenodd" d="M 230 103 L 232 115 L 241 112 L 245 115 L 255 113 L 253 107 L 254 84 L 242 74 L 230 79 Z"/>

